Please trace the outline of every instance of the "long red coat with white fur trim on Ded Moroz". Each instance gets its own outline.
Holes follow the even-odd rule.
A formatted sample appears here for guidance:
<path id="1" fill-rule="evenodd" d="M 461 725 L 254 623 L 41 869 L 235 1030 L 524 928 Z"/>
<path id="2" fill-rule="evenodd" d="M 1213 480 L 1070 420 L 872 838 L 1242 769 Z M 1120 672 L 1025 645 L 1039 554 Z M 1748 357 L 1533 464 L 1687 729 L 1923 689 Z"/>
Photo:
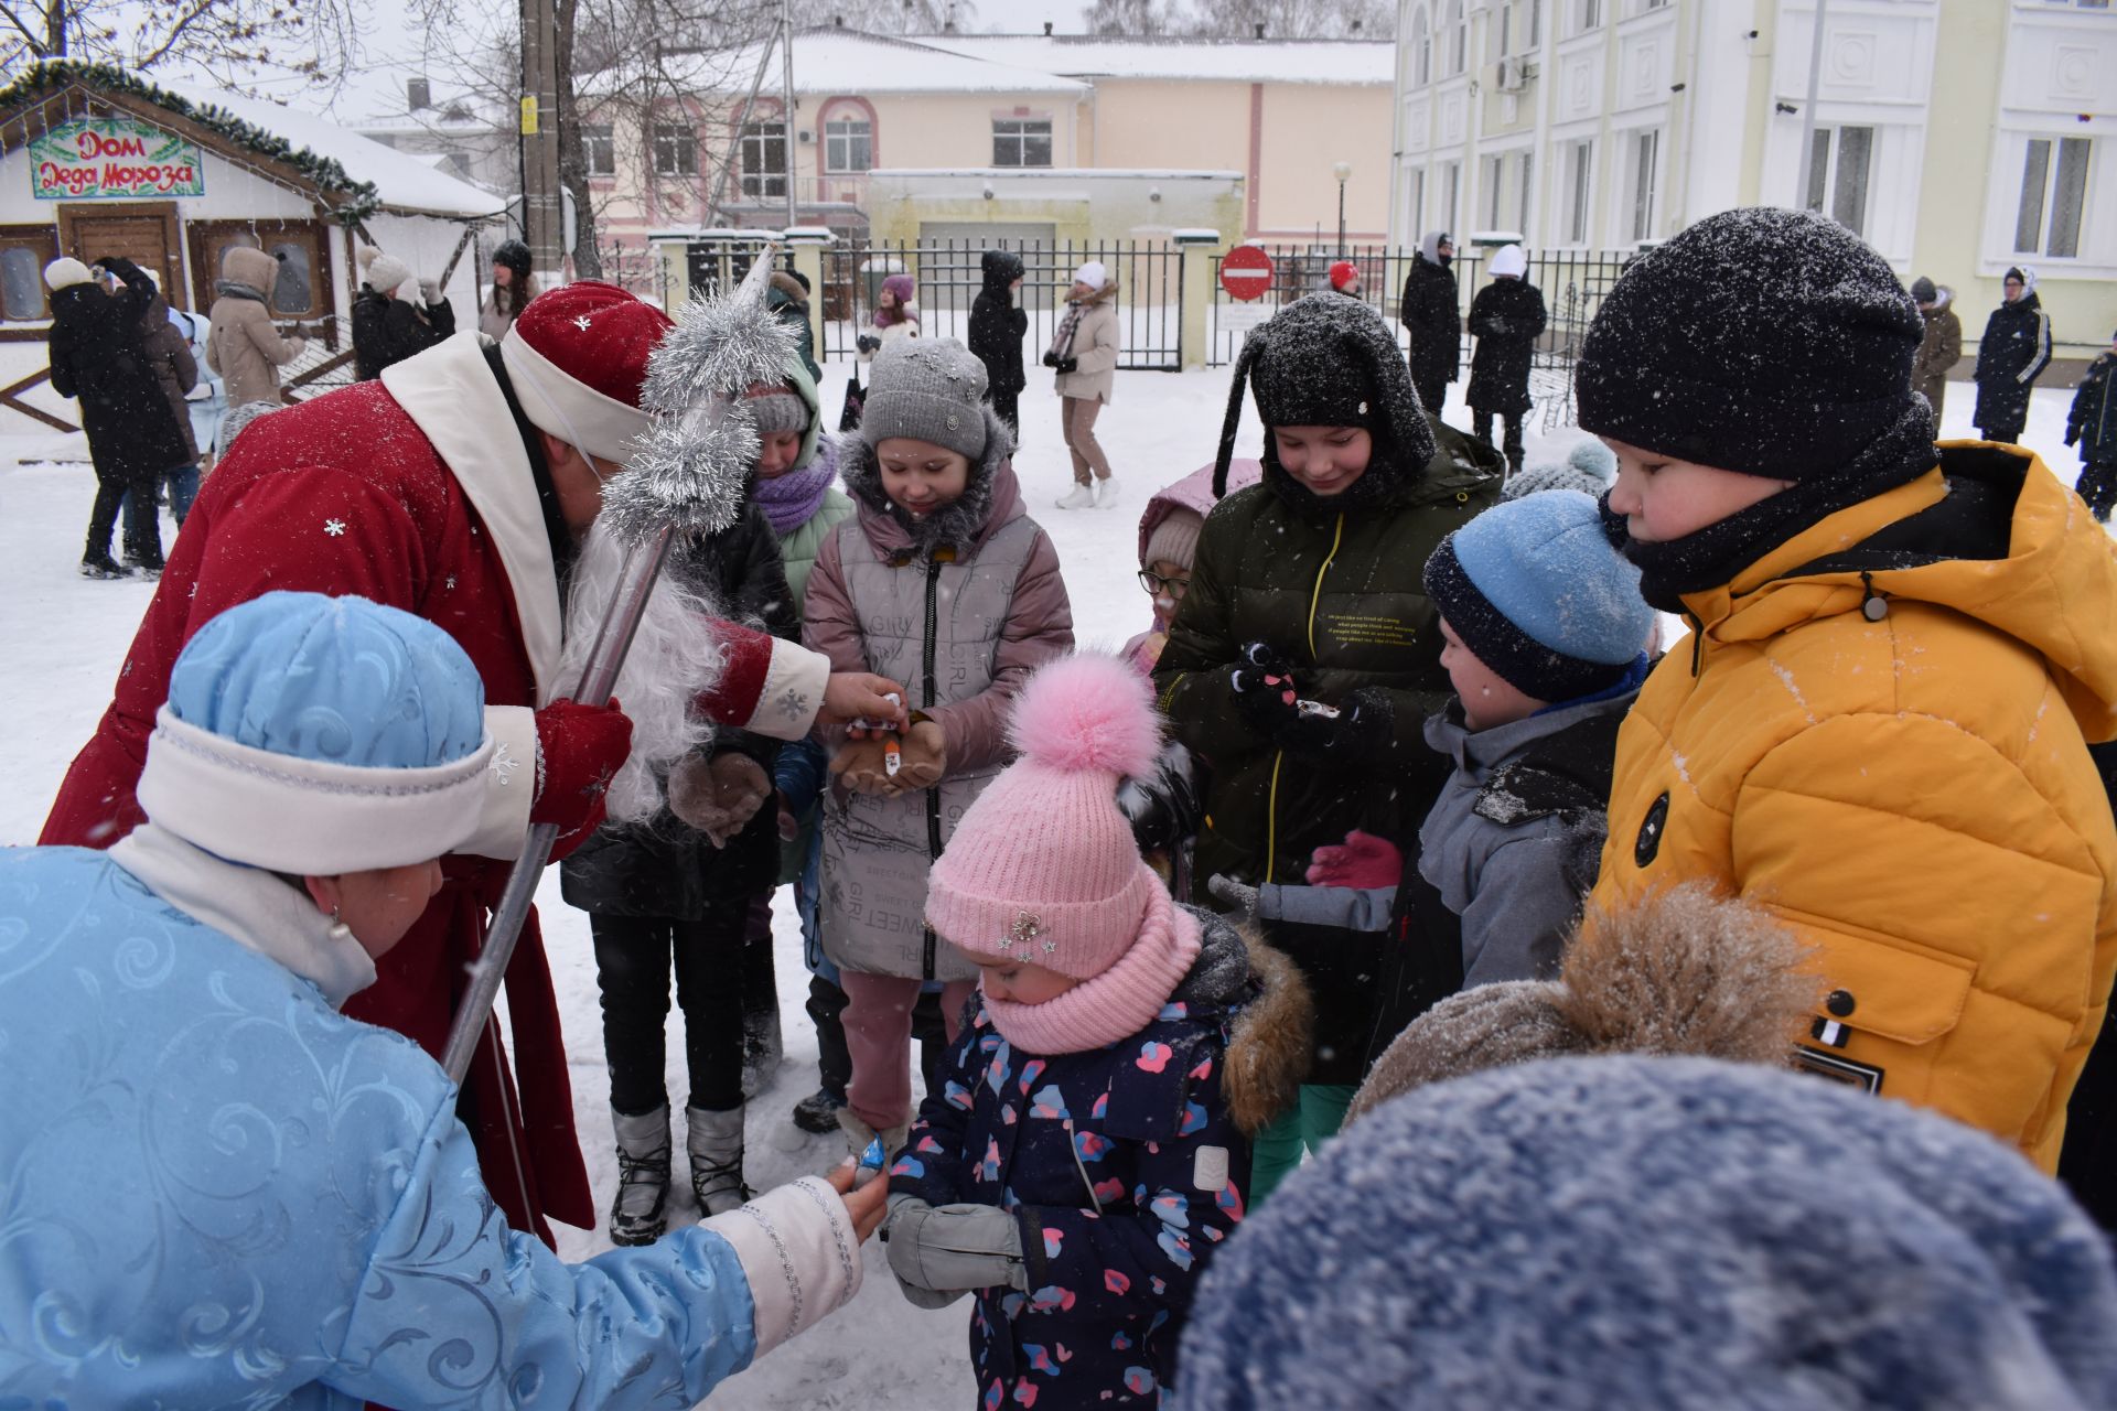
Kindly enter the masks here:
<path id="1" fill-rule="evenodd" d="M 550 535 L 527 442 L 485 347 L 478 334 L 457 334 L 379 381 L 275 413 L 243 434 L 199 493 L 110 709 L 68 770 L 40 838 L 104 848 L 142 823 L 133 789 L 169 668 L 227 607 L 292 588 L 360 594 L 434 622 L 485 679 L 487 726 L 500 745 L 487 825 L 466 853 L 442 861 L 447 884 L 381 958 L 377 984 L 345 1005 L 347 1015 L 394 1028 L 430 1053 L 442 1049 L 466 965 L 529 825 L 533 711 L 569 688 L 555 679 L 561 605 Z M 779 707 L 796 696 L 819 700 L 826 666 L 737 626 L 724 626 L 724 643 L 726 671 L 701 707 L 764 734 L 804 730 L 807 719 Z M 495 1024 L 466 1079 L 462 1115 L 493 1199 L 517 1229 L 550 1242 L 544 1216 L 591 1227 L 595 1208 L 536 912 L 506 992 L 519 1087 Z"/>

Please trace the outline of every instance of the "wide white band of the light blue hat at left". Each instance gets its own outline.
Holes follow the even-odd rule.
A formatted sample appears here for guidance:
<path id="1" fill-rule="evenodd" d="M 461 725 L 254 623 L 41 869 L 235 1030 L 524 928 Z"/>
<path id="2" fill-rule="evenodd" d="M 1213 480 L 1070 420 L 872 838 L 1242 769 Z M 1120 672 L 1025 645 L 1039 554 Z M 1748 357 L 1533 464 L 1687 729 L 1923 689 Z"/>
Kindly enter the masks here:
<path id="1" fill-rule="evenodd" d="M 459 850 L 478 831 L 491 762 L 491 736 L 428 768 L 296 759 L 199 730 L 163 704 L 138 800 L 150 821 L 214 857 L 334 876 Z"/>

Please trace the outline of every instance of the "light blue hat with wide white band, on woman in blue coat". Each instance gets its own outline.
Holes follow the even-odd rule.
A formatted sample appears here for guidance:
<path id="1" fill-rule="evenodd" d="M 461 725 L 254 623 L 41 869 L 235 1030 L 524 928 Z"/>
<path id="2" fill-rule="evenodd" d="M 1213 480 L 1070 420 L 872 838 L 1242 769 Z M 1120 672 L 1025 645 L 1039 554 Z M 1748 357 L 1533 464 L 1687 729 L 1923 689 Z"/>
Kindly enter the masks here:
<path id="1" fill-rule="evenodd" d="M 330 876 L 423 863 L 485 808 L 485 683 L 432 622 L 267 592 L 184 645 L 140 808 L 216 857 Z"/>

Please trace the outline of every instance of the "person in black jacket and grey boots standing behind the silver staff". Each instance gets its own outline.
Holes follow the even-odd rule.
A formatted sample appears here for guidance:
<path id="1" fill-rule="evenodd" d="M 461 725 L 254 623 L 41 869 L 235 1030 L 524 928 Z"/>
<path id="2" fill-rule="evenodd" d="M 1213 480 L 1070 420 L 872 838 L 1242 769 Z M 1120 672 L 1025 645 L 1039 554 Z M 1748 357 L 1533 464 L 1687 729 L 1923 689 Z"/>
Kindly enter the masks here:
<path id="1" fill-rule="evenodd" d="M 749 499 L 743 516 L 671 550 L 669 578 L 720 613 L 794 641 L 798 618 L 779 539 Z M 559 867 L 569 905 L 589 912 L 603 994 L 603 1056 L 618 1134 L 616 1244 L 667 1227 L 669 1094 L 663 1032 L 669 969 L 684 1009 L 690 1180 L 703 1214 L 749 1197 L 743 1185 L 743 929 L 749 899 L 779 880 L 777 743 L 720 730 L 669 776 L 648 823 L 605 825 Z M 747 806 L 747 812 L 745 812 Z"/>

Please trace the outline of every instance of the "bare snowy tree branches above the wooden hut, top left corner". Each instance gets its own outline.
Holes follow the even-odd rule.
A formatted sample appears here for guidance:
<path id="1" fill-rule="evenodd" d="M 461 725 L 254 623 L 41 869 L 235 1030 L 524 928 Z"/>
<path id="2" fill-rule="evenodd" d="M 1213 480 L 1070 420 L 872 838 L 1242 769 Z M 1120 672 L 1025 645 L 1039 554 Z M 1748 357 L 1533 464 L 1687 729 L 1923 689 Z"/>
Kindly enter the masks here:
<path id="1" fill-rule="evenodd" d="M 360 61 L 356 0 L 0 0 L 0 76 L 38 59 L 135 74 L 205 72 L 231 89 L 260 76 L 339 85 Z"/>

